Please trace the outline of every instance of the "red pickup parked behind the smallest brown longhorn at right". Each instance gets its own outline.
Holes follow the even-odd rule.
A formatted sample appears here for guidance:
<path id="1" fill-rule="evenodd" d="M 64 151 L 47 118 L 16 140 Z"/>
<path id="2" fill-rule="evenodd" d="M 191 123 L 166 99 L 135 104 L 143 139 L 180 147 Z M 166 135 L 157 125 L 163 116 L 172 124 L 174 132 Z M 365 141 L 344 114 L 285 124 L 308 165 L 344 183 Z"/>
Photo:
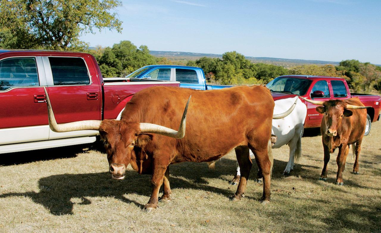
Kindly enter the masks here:
<path id="1" fill-rule="evenodd" d="M 365 95 L 350 93 L 347 82 L 343 78 L 327 76 L 306 76 L 306 75 L 285 75 L 279 76 L 266 85 L 271 90 L 274 100 L 303 96 L 311 100 L 344 100 L 358 97 L 367 108 L 367 127 L 365 135 L 368 135 L 371 122 L 378 121 L 380 118 L 380 101 L 378 95 Z M 304 121 L 304 128 L 320 127 L 323 114 L 315 110 L 315 104 L 302 100 L 307 105 L 307 116 Z"/>

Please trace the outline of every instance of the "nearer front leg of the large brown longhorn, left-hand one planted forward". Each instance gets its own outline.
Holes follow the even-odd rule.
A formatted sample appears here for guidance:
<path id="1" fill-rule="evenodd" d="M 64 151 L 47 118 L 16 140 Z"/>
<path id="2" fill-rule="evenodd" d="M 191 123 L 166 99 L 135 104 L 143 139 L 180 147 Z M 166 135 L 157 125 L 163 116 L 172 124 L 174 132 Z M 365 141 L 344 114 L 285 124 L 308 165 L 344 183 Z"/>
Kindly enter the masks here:
<path id="1" fill-rule="evenodd" d="M 157 164 L 154 161 L 153 173 L 151 178 L 151 186 L 152 186 L 152 194 L 148 203 L 144 207 L 146 212 L 155 211 L 158 202 L 159 190 L 163 184 L 163 179 L 165 175 L 165 171 L 167 170 L 168 165 L 162 166 Z M 169 172 L 169 171 L 168 171 Z"/>

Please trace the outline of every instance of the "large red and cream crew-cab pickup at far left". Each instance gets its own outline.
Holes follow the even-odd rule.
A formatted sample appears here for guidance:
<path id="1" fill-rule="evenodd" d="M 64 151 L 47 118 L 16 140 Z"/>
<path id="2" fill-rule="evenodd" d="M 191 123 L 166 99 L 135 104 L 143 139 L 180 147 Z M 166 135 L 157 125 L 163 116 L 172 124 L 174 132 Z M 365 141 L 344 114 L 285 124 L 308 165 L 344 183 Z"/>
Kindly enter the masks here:
<path id="1" fill-rule="evenodd" d="M 48 125 L 43 86 L 58 123 L 117 119 L 134 93 L 179 82 L 102 78 L 87 53 L 0 50 L 0 154 L 91 143 L 98 131 L 56 133 Z"/>

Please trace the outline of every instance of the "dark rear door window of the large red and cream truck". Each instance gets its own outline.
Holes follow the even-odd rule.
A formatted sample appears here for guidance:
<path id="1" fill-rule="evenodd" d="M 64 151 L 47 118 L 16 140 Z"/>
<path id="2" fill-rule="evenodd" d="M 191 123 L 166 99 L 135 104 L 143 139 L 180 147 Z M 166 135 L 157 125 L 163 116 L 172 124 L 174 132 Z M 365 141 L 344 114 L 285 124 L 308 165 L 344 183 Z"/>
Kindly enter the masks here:
<path id="1" fill-rule="evenodd" d="M 54 85 L 89 84 L 90 77 L 82 58 L 49 58 Z"/>

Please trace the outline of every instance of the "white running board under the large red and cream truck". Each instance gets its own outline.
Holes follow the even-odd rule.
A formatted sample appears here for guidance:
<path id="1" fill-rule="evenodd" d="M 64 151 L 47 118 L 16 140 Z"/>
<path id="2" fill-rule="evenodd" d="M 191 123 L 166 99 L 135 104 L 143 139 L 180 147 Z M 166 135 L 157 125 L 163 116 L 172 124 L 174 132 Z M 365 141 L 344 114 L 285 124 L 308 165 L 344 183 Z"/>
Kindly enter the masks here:
<path id="1" fill-rule="evenodd" d="M 79 138 L 64 138 L 47 141 L 35 141 L 26 143 L 17 143 L 11 145 L 0 145 L 0 154 L 13 153 L 20 151 L 30 151 L 35 149 L 46 149 L 61 146 L 72 146 L 86 143 L 93 143 L 96 137 L 79 137 Z"/>

